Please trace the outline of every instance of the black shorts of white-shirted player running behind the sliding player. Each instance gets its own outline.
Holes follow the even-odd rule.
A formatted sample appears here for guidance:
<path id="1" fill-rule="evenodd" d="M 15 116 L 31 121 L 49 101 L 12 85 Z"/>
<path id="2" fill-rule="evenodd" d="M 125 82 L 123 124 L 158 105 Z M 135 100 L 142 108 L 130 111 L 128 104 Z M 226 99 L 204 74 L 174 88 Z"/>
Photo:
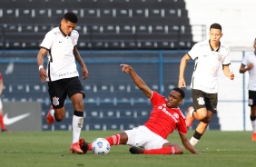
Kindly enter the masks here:
<path id="1" fill-rule="evenodd" d="M 192 89 L 192 103 L 195 110 L 206 108 L 212 113 L 217 113 L 218 93 L 204 93 Z"/>

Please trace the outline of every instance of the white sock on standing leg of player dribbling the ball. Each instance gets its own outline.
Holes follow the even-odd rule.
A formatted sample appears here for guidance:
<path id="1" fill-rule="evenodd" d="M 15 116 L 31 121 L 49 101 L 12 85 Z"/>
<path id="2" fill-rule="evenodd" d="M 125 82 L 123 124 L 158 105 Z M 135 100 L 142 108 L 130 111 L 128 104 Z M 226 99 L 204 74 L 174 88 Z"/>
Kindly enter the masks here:
<path id="1" fill-rule="evenodd" d="M 79 141 L 80 133 L 83 128 L 84 124 L 84 117 L 79 117 L 76 115 L 73 115 L 73 122 L 72 122 L 72 128 L 73 128 L 73 143 Z"/>

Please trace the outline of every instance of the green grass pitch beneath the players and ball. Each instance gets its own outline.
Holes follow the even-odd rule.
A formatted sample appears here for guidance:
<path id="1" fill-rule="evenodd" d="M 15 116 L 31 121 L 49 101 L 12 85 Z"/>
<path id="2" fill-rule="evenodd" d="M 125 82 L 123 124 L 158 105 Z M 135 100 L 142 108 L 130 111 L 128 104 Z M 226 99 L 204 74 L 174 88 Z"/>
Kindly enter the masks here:
<path id="1" fill-rule="evenodd" d="M 87 142 L 96 137 L 107 137 L 115 131 L 82 132 Z M 193 131 L 188 133 L 189 138 Z M 170 142 L 180 142 L 177 132 Z M 182 155 L 133 155 L 129 146 L 112 146 L 107 155 L 93 152 L 79 155 L 69 152 L 72 132 L 0 133 L 0 166 L 104 166 L 104 167 L 149 167 L 149 166 L 255 166 L 256 142 L 251 142 L 251 132 L 207 131 L 196 146 L 202 154 L 185 151 Z"/>

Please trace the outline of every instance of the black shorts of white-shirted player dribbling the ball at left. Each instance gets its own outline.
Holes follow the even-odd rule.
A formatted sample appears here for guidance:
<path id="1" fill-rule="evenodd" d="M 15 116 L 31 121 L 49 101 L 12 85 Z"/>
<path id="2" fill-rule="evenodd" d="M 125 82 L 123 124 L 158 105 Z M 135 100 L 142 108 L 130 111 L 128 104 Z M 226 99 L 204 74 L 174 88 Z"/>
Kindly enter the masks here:
<path id="1" fill-rule="evenodd" d="M 48 82 L 48 92 L 54 109 L 64 106 L 67 95 L 70 98 L 75 93 L 82 93 L 83 98 L 85 97 L 83 86 L 78 77 Z"/>

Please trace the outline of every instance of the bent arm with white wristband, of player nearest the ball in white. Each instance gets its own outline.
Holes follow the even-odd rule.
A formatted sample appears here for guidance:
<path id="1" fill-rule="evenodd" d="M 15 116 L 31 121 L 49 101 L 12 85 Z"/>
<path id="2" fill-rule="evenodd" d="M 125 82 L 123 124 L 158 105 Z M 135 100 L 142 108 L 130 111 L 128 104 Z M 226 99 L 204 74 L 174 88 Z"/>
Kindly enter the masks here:
<path id="1" fill-rule="evenodd" d="M 40 74 L 40 80 L 42 83 L 46 81 L 47 74 L 44 70 L 44 55 L 47 54 L 47 50 L 44 47 L 41 47 L 38 54 L 37 54 L 37 64 Z"/>

